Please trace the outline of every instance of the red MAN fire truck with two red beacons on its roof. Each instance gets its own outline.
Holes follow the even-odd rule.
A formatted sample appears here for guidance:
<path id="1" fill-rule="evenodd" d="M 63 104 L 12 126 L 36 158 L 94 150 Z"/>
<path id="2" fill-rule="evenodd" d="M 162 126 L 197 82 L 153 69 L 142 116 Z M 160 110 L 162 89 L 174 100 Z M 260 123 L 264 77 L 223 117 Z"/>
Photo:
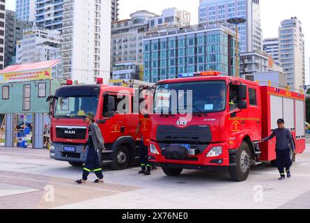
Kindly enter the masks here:
<path id="1" fill-rule="evenodd" d="M 134 164 L 139 154 L 135 133 L 139 114 L 132 112 L 133 96 L 134 89 L 104 85 L 100 78 L 92 85 L 72 85 L 68 80 L 67 86 L 57 89 L 55 95 L 48 98 L 52 119 L 50 156 L 72 166 L 84 164 L 88 150 L 82 153 L 88 135 L 84 114 L 93 112 L 107 148 L 98 153 L 102 164 L 111 164 L 113 169 Z M 124 99 L 123 112 L 117 111 L 118 103 Z"/>

